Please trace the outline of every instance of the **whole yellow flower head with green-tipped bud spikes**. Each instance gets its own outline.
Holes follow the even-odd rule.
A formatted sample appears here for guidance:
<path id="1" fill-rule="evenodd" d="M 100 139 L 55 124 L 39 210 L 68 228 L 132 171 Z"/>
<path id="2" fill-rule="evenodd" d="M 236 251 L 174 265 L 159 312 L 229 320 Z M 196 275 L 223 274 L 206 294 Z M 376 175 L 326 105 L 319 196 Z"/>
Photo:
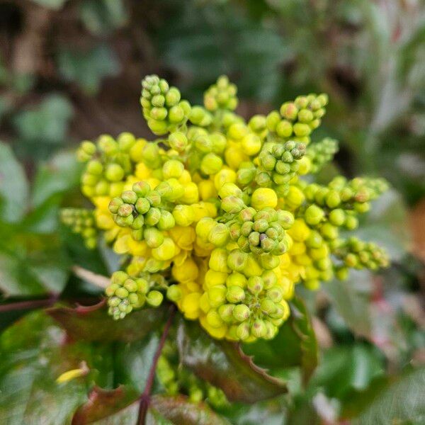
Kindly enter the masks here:
<path id="1" fill-rule="evenodd" d="M 88 246 L 102 232 L 127 259 L 106 289 L 114 319 L 166 298 L 217 339 L 271 339 L 298 283 L 314 290 L 348 268 L 387 266 L 385 251 L 347 236 L 387 183 L 314 182 L 338 150 L 329 138 L 311 142 L 326 95 L 246 122 L 227 77 L 205 92 L 204 106 L 191 106 L 152 75 L 140 103 L 159 138 L 82 142 L 81 191 L 94 210 L 62 215 Z"/>

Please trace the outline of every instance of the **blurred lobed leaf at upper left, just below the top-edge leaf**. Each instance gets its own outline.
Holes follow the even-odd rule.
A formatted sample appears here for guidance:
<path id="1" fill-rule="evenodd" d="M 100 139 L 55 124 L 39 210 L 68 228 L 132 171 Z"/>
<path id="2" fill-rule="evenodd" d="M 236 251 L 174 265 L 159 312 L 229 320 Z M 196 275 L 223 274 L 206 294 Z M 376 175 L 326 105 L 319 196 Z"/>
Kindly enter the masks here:
<path id="1" fill-rule="evenodd" d="M 120 71 L 118 58 L 107 45 L 99 45 L 88 52 L 61 50 L 57 64 L 62 77 L 77 83 L 87 94 L 96 94 L 102 79 Z"/>

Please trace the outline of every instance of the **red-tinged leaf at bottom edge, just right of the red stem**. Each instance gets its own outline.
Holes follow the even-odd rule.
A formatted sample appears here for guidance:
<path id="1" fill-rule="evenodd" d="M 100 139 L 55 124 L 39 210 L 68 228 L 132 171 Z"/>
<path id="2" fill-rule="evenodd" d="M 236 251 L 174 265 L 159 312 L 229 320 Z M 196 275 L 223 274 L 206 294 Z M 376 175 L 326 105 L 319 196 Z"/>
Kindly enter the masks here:
<path id="1" fill-rule="evenodd" d="M 164 424 L 158 419 L 156 412 L 171 424 L 175 425 L 229 425 L 229 422 L 219 416 L 205 403 L 192 403 L 188 397 L 154 395 L 147 412 L 146 424 Z"/>

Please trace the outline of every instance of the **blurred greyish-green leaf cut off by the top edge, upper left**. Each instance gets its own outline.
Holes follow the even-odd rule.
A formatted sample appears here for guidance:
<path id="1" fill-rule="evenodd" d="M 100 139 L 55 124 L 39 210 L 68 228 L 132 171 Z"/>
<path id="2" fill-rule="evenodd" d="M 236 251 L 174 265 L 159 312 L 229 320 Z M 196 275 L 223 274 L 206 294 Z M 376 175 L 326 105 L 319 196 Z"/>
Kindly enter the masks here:
<path id="1" fill-rule="evenodd" d="M 128 20 L 122 0 L 84 0 L 80 16 L 86 28 L 96 35 L 120 28 Z"/>

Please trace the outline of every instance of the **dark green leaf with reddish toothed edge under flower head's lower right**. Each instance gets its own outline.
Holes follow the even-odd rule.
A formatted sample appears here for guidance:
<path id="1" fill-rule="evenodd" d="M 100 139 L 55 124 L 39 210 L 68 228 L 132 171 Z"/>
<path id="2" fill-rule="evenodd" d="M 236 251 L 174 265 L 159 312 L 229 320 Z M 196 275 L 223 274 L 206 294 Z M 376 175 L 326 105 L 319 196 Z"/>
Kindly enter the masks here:
<path id="1" fill-rule="evenodd" d="M 254 356 L 264 368 L 288 368 L 300 365 L 305 380 L 317 366 L 317 341 L 305 303 L 295 297 L 290 302 L 291 314 L 271 341 L 244 344 L 244 352 Z M 283 349 L 284 347 L 284 349 Z"/>

